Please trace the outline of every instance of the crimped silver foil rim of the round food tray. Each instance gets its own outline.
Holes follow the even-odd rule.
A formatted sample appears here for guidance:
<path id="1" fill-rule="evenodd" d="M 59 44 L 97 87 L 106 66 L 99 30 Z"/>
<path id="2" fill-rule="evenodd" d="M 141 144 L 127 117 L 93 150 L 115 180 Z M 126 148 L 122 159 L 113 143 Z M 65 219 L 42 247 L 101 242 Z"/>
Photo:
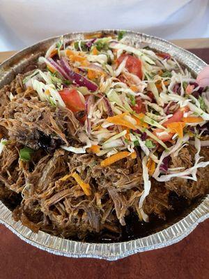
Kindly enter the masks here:
<path id="1" fill-rule="evenodd" d="M 111 33 L 119 30 L 102 31 Z M 64 35 L 64 38 L 82 39 L 85 34 L 98 32 L 100 31 L 68 33 Z M 41 52 L 44 52 L 51 43 L 57 40 L 57 38 L 59 38 L 59 36 L 43 40 L 36 45 L 27 47 L 3 62 L 0 66 L 0 87 L 10 82 L 13 76 L 21 71 L 27 61 L 31 61 L 34 57 L 39 56 Z M 127 31 L 127 38 L 131 43 L 136 43 L 136 45 L 141 42 L 148 43 L 150 47 L 157 50 L 170 52 L 178 59 L 178 61 L 184 63 L 189 70 L 192 70 L 194 74 L 199 73 L 199 71 L 207 65 L 196 55 L 155 36 Z M 29 228 L 24 227 L 20 221 L 15 222 L 12 218 L 12 212 L 3 204 L 3 202 L 0 202 L 0 223 L 6 225 L 6 227 L 19 236 L 20 239 L 26 241 L 26 243 L 47 252 L 63 255 L 65 257 L 91 257 L 116 260 L 137 252 L 162 248 L 180 241 L 192 232 L 199 223 L 207 218 L 209 218 L 209 195 L 204 197 L 201 204 L 196 206 L 196 208 L 185 218 L 179 220 L 170 227 L 167 227 L 167 229 L 163 229 L 150 236 L 120 243 L 84 243 L 61 239 L 60 237 L 52 236 L 41 231 L 38 232 L 38 234 L 35 234 L 31 232 Z"/>

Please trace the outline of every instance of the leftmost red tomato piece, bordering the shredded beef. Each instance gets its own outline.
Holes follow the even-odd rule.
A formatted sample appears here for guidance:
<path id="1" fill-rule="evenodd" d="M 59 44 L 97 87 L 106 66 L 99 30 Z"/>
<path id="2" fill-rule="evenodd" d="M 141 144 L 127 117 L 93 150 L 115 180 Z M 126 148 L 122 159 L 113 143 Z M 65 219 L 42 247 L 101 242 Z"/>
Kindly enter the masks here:
<path id="1" fill-rule="evenodd" d="M 72 112 L 81 112 L 85 110 L 85 105 L 76 89 L 64 88 L 59 91 L 66 107 Z"/>

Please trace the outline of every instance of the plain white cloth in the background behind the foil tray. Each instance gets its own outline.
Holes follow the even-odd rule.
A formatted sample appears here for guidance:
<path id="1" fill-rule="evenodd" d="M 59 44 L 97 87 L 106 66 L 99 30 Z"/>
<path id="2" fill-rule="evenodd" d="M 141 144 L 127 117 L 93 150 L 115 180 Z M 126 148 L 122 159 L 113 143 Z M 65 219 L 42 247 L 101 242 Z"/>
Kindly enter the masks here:
<path id="1" fill-rule="evenodd" d="M 98 29 L 166 39 L 209 37 L 209 0 L 0 0 L 0 51 Z"/>

